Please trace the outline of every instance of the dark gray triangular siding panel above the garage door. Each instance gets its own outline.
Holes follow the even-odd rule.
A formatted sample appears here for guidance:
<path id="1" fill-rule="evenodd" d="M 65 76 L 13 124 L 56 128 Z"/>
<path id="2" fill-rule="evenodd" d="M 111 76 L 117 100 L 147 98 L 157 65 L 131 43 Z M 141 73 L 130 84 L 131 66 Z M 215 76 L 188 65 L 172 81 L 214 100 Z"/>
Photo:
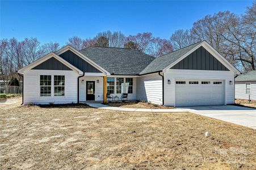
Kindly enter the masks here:
<path id="1" fill-rule="evenodd" d="M 203 46 L 196 49 L 171 69 L 221 70 L 229 71 L 221 62 L 212 56 Z"/>

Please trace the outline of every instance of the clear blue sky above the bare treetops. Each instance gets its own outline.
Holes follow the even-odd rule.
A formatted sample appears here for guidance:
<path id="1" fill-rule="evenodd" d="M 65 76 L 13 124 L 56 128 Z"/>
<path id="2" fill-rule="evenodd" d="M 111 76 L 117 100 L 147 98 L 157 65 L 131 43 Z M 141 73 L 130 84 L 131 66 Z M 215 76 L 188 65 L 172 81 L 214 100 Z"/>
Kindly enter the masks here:
<path id="1" fill-rule="evenodd" d="M 169 39 L 205 15 L 229 10 L 242 14 L 252 1 L 1 1 L 0 39 L 37 37 L 64 45 L 71 36 L 97 32 L 125 35 L 152 32 Z"/>

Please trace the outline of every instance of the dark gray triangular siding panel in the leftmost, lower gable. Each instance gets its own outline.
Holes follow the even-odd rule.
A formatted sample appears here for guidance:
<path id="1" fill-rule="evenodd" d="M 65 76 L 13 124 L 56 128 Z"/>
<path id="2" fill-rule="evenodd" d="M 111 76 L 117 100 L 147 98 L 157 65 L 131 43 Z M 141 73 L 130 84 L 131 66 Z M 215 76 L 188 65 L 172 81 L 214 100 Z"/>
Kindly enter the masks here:
<path id="1" fill-rule="evenodd" d="M 32 70 L 71 70 L 69 67 L 58 61 L 56 58 L 52 57 L 33 67 Z"/>

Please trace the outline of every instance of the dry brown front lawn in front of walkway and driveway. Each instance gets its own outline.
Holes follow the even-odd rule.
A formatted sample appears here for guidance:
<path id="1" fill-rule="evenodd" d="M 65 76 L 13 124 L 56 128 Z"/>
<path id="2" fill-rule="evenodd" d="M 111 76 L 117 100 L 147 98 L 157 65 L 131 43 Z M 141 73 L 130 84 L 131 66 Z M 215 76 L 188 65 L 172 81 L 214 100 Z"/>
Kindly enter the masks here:
<path id="1" fill-rule="evenodd" d="M 0 105 L 0 130 L 0 169 L 256 168 L 256 130 L 192 113 Z"/>

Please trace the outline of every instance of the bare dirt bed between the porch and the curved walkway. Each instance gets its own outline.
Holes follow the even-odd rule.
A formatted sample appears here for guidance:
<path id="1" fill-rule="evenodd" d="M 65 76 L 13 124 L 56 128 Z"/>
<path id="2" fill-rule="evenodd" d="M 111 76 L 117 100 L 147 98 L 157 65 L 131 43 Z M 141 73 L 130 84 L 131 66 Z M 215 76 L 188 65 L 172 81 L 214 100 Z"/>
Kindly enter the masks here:
<path id="1" fill-rule="evenodd" d="M 126 102 L 110 102 L 106 103 L 112 107 L 122 107 L 122 108 L 136 108 L 136 109 L 173 109 L 174 107 L 166 107 L 163 105 L 146 103 L 141 101 L 126 101 Z"/>

